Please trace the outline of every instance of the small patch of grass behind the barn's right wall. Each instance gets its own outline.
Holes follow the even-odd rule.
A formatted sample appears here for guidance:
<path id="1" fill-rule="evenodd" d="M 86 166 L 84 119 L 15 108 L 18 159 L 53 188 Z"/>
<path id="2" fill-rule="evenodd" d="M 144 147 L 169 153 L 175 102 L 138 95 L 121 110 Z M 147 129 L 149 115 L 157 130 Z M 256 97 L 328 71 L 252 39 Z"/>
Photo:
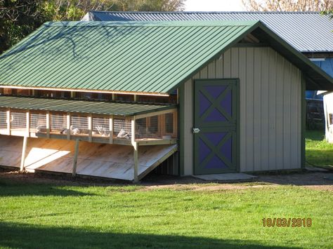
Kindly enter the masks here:
<path id="1" fill-rule="evenodd" d="M 306 131 L 306 162 L 333 169 L 333 144 L 326 142 L 324 131 Z"/>

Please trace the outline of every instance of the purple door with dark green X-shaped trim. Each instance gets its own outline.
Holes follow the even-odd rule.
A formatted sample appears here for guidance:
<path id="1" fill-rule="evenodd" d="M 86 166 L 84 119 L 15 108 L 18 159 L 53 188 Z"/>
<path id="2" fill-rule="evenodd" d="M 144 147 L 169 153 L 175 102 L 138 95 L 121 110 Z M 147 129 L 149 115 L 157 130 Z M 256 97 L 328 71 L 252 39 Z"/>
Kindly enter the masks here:
<path id="1" fill-rule="evenodd" d="M 195 81 L 195 175 L 237 172 L 237 80 Z"/>

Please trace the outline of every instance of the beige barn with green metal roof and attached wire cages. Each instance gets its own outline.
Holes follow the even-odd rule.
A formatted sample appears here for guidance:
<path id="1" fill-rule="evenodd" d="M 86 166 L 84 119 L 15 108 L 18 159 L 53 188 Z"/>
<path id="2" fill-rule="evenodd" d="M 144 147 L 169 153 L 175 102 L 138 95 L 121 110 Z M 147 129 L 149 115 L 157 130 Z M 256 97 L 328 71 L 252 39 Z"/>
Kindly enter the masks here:
<path id="1" fill-rule="evenodd" d="M 257 20 L 47 22 L 0 88 L 0 165 L 138 181 L 302 168 L 333 79 Z"/>

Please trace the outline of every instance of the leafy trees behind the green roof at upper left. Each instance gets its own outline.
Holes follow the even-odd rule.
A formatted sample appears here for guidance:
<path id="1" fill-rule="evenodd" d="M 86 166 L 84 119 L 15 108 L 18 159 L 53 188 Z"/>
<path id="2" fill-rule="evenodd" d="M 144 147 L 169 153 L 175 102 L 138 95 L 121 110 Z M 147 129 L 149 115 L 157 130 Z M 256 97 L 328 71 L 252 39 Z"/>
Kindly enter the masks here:
<path id="1" fill-rule="evenodd" d="M 183 11 L 185 0 L 0 0 L 0 54 L 47 21 L 88 11 Z"/>

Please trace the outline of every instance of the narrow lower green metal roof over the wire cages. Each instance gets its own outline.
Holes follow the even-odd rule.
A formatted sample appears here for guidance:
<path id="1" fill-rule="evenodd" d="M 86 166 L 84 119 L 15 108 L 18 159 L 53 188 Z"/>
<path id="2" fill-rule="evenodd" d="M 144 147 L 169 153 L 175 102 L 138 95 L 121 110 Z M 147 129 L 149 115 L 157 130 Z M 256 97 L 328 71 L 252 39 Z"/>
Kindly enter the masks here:
<path id="1" fill-rule="evenodd" d="M 153 105 L 128 102 L 101 102 L 82 100 L 55 100 L 36 97 L 0 96 L 0 107 L 53 112 L 78 112 L 135 116 L 175 108 L 175 105 Z"/>

